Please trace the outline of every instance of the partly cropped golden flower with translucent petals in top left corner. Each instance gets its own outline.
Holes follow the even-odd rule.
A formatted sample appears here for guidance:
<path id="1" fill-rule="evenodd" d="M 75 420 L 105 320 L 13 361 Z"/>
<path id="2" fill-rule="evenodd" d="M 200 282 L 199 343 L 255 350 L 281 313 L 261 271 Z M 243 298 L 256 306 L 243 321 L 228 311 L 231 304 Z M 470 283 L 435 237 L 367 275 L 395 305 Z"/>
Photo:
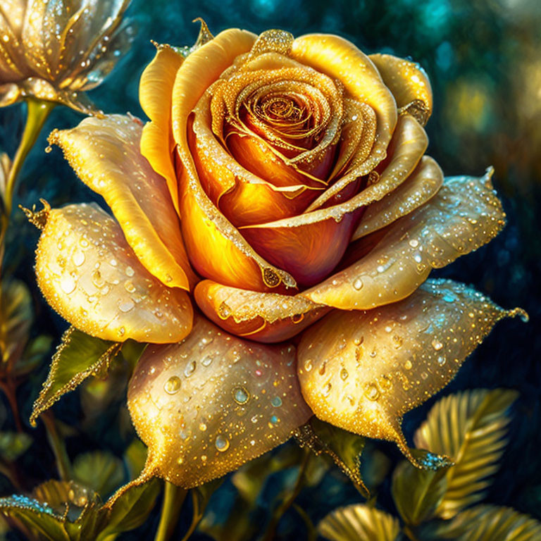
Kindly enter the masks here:
<path id="1" fill-rule="evenodd" d="M 0 14 L 0 106 L 32 97 L 82 113 L 133 39 L 130 0 L 7 0 Z"/>

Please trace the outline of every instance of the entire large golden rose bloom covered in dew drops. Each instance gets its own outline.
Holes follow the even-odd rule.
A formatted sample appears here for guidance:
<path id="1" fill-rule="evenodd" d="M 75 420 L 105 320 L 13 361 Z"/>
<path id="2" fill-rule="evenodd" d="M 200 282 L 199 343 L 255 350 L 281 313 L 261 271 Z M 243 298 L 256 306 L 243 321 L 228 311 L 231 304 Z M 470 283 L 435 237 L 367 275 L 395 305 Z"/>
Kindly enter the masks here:
<path id="1" fill-rule="evenodd" d="M 35 216 L 42 292 L 89 335 L 154 343 L 128 392 L 147 473 L 203 483 L 313 413 L 417 464 L 402 415 L 516 313 L 426 281 L 502 229 L 492 171 L 444 179 L 425 156 L 432 93 L 411 61 L 281 30 L 203 27 L 188 52 L 158 46 L 144 126 L 51 134 L 114 218 Z"/>

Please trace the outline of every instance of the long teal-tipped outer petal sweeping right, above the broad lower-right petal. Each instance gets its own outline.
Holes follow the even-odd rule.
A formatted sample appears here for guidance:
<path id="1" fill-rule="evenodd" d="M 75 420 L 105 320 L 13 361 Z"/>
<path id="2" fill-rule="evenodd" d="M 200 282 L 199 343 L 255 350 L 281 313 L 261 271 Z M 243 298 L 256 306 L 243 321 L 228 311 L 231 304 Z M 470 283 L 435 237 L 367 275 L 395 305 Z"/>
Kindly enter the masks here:
<path id="1" fill-rule="evenodd" d="M 432 268 L 478 249 L 502 230 L 505 213 L 491 176 L 492 168 L 482 178 L 447 178 L 433 199 L 390 225 L 360 261 L 301 294 L 343 310 L 404 299 Z M 361 243 L 370 245 L 371 235 Z"/>

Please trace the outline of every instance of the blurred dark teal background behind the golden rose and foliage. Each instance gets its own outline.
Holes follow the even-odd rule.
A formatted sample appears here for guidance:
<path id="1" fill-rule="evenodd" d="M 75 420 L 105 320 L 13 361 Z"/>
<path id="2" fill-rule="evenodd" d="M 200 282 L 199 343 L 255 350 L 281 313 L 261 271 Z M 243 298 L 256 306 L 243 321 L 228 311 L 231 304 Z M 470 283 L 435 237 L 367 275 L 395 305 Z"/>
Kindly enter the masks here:
<path id="1" fill-rule="evenodd" d="M 386 52 L 421 63 L 430 76 L 435 96 L 434 114 L 427 126 L 428 154 L 437 159 L 446 175 L 482 175 L 487 166 L 495 166 L 495 187 L 502 195 L 509 220 L 495 241 L 437 274 L 473 284 L 502 306 L 522 306 L 530 313 L 528 325 L 520 321 L 500 323 L 443 394 L 476 387 L 513 387 L 521 393 L 514 409 L 509 447 L 487 502 L 514 506 L 541 518 L 541 237 L 537 218 L 541 212 L 541 2 L 134 0 L 128 16 L 139 28 L 135 44 L 104 84 L 90 93 L 108 113 L 130 111 L 142 116 L 137 86 L 144 66 L 154 56 L 150 39 L 192 44 L 199 30 L 198 24 L 192 24 L 196 17 L 204 18 L 215 34 L 232 26 L 253 32 L 278 27 L 294 35 L 331 32 L 351 39 L 367 53 Z M 22 105 L 0 111 L 0 147 L 11 156 L 23 129 L 23 113 Z M 79 121 L 80 116 L 63 108 L 52 113 L 23 171 L 18 203 L 31 206 L 39 197 L 52 206 L 97 200 L 75 178 L 60 151 L 44 153 L 49 130 Z M 26 223 L 22 213 L 14 219 L 17 224 L 11 228 L 6 264 L 32 289 L 38 317 L 37 329 L 32 332 L 46 332 L 58 342 L 66 324 L 44 304 L 33 278 L 37 231 Z M 45 375 L 44 362 L 18 392 L 26 426 Z M 56 416 L 77 428 L 77 436 L 67 440 L 70 456 L 87 449 L 122 455 L 133 437 L 122 410 L 122 381 L 119 378 L 116 385 L 107 387 L 110 399 L 104 399 L 103 409 L 95 409 L 92 402 L 85 408 L 86 395 L 82 394 L 86 390 L 70 394 L 55 406 Z M 406 436 L 411 435 L 434 401 L 431 399 L 406 416 Z M 5 406 L 0 412 L 4 430 L 12 422 L 8 404 Z M 38 481 L 56 475 L 44 439 L 40 427 L 23 459 L 25 468 Z M 383 449 L 392 461 L 399 460 L 392 445 L 376 443 L 375 447 Z M 265 516 L 266 502 L 282 483 L 280 475 L 287 475 L 287 470 L 270 476 L 254 511 L 255 520 Z M 12 492 L 4 478 L 0 478 L 0 490 L 2 495 Z M 228 511 L 233 493 L 227 481 L 211 500 L 213 516 Z M 316 489 L 302 492 L 298 499 L 316 522 L 336 506 L 357 501 L 356 491 L 337 471 L 325 475 Z M 378 501 L 393 511 L 388 480 L 383 483 Z M 147 524 L 122 538 L 151 538 L 158 513 L 156 506 Z M 181 518 L 179 531 L 187 527 L 188 519 L 188 514 Z M 280 525 L 279 539 L 303 535 L 299 516 L 287 514 Z M 19 538 L 8 534 L 8 539 Z M 209 538 L 196 534 L 193 539 Z"/>

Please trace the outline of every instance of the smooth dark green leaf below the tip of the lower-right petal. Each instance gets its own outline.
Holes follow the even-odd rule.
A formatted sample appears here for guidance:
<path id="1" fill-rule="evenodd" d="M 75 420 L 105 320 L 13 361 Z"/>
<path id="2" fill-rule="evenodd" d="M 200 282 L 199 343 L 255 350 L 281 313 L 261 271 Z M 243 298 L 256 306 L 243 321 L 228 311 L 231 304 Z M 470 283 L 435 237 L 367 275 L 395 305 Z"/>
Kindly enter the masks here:
<path id="1" fill-rule="evenodd" d="M 411 449 L 418 461 L 426 461 L 428 453 Z M 452 463 L 448 463 L 447 466 Z M 447 490 L 447 467 L 421 470 L 409 461 L 402 461 L 392 476 L 392 497 L 406 524 L 418 526 L 432 518 Z"/>

